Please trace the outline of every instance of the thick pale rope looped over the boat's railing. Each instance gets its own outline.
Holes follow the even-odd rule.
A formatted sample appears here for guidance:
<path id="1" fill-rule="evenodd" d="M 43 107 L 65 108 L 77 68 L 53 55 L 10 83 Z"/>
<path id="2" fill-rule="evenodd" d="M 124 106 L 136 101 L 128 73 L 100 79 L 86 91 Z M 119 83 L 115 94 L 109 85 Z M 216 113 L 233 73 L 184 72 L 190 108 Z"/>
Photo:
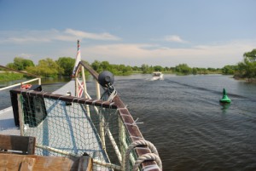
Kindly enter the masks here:
<path id="1" fill-rule="evenodd" d="M 134 166 L 132 167 L 133 171 L 137 171 L 138 167 L 140 164 L 144 161 L 155 161 L 160 169 L 162 169 L 162 162 L 160 160 L 158 151 L 156 150 L 155 146 L 149 142 L 148 140 L 136 140 L 131 145 L 128 146 L 125 155 L 123 157 L 123 164 L 122 164 L 122 170 L 123 171 L 128 171 L 129 168 L 129 161 L 130 161 L 130 154 L 131 151 L 135 147 L 143 147 L 143 146 L 148 146 L 149 150 L 151 153 L 144 154 L 140 157 L 137 158 L 137 161 L 135 162 Z"/>

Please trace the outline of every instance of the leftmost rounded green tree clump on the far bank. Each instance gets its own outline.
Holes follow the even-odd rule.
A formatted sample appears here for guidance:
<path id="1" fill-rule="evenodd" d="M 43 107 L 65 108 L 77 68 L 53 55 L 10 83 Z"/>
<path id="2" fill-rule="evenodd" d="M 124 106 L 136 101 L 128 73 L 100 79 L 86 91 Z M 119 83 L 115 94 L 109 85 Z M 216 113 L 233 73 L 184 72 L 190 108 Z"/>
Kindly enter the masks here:
<path id="1" fill-rule="evenodd" d="M 21 57 L 15 57 L 14 63 L 7 64 L 7 67 L 18 71 L 26 70 L 26 68 L 29 66 L 35 66 L 33 61 Z"/>

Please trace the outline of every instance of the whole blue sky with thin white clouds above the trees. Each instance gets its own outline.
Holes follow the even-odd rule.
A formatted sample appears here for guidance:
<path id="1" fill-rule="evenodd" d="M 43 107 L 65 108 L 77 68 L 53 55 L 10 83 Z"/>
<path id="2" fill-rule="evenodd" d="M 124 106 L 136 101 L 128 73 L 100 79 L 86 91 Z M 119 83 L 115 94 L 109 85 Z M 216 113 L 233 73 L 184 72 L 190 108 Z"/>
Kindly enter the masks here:
<path id="1" fill-rule="evenodd" d="M 256 48 L 255 0 L 0 0 L 0 63 L 75 58 L 223 67 Z"/>

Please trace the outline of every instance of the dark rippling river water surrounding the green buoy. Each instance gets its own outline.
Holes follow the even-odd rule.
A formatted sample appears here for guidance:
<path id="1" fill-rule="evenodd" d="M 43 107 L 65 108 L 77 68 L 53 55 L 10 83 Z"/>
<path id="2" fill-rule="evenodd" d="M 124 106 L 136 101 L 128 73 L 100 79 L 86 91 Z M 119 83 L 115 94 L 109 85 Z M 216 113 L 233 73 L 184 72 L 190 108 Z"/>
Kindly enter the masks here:
<path id="1" fill-rule="evenodd" d="M 143 122 L 138 126 L 157 147 L 164 170 L 256 170 L 256 84 L 221 75 L 149 78 L 115 77 L 114 87 Z M 223 88 L 230 105 L 218 102 Z M 3 109 L 8 92 L 0 95 Z"/>

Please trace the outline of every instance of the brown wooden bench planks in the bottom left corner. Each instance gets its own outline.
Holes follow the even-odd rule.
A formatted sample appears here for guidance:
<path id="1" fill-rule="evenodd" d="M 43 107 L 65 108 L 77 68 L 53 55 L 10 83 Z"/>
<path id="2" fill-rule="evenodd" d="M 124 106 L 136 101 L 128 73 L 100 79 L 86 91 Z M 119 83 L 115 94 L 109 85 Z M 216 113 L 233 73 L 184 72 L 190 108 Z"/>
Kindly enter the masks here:
<path id="1" fill-rule="evenodd" d="M 92 170 L 92 159 L 81 157 L 43 157 L 34 155 L 34 137 L 0 134 L 0 170 Z"/>

